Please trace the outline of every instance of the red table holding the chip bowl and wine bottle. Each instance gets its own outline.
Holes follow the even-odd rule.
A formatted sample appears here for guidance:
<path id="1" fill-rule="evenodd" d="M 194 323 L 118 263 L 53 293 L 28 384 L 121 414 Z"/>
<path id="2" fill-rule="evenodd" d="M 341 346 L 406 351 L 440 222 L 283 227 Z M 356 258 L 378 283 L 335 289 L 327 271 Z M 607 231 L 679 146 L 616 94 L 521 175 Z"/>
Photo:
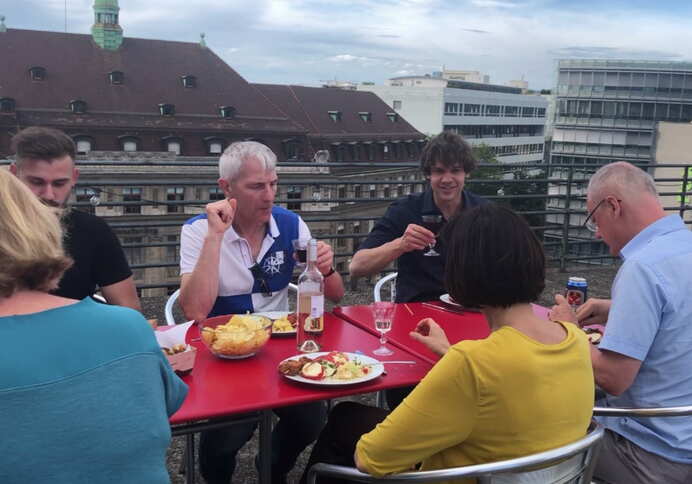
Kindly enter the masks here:
<path id="1" fill-rule="evenodd" d="M 198 334 L 197 327 L 193 326 L 188 332 L 188 340 L 196 338 Z M 387 365 L 387 375 L 365 383 L 315 386 L 288 380 L 277 370 L 281 360 L 298 353 L 295 337 L 272 337 L 255 356 L 242 360 L 217 358 L 204 343 L 192 344 L 197 347 L 195 367 L 191 374 L 183 377 L 189 392 L 182 407 L 170 419 L 175 426 L 174 434 L 188 434 L 188 469 L 194 468 L 193 432 L 232 425 L 233 416 L 259 411 L 259 416 L 250 418 L 260 424 L 260 482 L 269 482 L 270 479 L 270 409 L 414 385 L 432 367 L 427 359 L 403 347 L 395 348 L 393 355 L 378 359 L 414 360 L 416 363 Z M 323 351 L 362 351 L 372 356 L 372 351 L 379 347 L 379 338 L 344 319 L 325 314 L 325 332 L 321 344 Z M 194 472 L 188 472 L 187 476 L 188 482 L 193 482 Z"/>

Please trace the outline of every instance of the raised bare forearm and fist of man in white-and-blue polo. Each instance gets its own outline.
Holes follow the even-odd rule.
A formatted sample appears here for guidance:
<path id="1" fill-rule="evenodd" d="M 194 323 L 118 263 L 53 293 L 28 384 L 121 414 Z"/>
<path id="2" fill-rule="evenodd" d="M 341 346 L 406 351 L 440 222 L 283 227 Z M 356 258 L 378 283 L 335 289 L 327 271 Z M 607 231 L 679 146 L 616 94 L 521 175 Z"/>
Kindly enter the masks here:
<path id="1" fill-rule="evenodd" d="M 185 317 L 194 321 L 205 319 L 219 294 L 219 261 L 221 243 L 226 230 L 233 223 L 236 201 L 219 200 L 210 203 L 207 211 L 207 234 L 191 273 L 184 273 L 180 280 L 180 306 Z M 190 257 L 185 251 L 194 252 L 194 237 L 183 229 L 180 249 L 181 259 Z M 192 247 L 189 247 L 192 246 Z"/>

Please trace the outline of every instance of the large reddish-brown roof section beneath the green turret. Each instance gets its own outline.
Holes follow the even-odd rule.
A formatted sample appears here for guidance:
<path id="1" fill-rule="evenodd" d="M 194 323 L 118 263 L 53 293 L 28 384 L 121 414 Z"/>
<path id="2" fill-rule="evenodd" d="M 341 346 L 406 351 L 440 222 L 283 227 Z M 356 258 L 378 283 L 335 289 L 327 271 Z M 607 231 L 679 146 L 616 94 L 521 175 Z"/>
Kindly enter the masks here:
<path id="1" fill-rule="evenodd" d="M 14 98 L 18 111 L 55 110 L 60 116 L 68 113 L 69 101 L 79 99 L 86 101 L 89 114 L 154 116 L 153 123 L 194 128 L 199 115 L 211 118 L 198 121 L 215 122 L 218 108 L 226 105 L 237 113 L 235 124 L 225 125 L 228 129 L 303 132 L 198 43 L 125 38 L 118 50 L 109 51 L 90 35 L 8 29 L 0 33 L 0 59 L 8 66 L 0 71 L 0 97 Z M 46 69 L 45 80 L 31 80 L 33 66 Z M 111 85 L 110 71 L 122 71 L 124 83 Z M 184 75 L 195 76 L 197 87 L 184 87 Z M 159 103 L 174 104 L 179 119 L 157 119 Z"/>

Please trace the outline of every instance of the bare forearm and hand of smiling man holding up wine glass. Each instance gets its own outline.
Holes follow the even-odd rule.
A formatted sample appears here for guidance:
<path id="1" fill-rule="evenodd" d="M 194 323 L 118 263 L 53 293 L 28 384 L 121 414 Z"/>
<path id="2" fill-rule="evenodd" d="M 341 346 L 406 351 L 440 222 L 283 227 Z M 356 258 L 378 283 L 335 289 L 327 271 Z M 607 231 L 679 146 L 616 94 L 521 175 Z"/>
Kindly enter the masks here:
<path id="1" fill-rule="evenodd" d="M 352 277 L 375 274 L 385 269 L 400 256 L 412 250 L 423 250 L 435 241 L 435 234 L 416 224 L 409 224 L 396 239 L 379 247 L 360 249 L 353 255 L 349 271 Z"/>

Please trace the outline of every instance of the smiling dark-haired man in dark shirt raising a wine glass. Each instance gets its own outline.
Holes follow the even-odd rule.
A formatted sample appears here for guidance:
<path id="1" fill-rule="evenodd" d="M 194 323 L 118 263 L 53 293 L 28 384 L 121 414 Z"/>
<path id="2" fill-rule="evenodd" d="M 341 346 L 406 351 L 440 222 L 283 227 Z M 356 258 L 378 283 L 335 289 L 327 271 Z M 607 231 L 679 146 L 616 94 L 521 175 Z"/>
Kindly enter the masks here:
<path id="1" fill-rule="evenodd" d="M 461 210 L 486 203 L 464 190 L 466 175 L 475 168 L 471 147 L 461 136 L 444 131 L 430 140 L 421 157 L 430 186 L 392 203 L 353 256 L 351 276 L 378 273 L 396 260 L 397 302 L 430 301 L 447 292 L 444 243 L 423 227 L 422 217 L 441 215 L 444 223 Z M 431 244 L 440 257 L 424 255 Z"/>

